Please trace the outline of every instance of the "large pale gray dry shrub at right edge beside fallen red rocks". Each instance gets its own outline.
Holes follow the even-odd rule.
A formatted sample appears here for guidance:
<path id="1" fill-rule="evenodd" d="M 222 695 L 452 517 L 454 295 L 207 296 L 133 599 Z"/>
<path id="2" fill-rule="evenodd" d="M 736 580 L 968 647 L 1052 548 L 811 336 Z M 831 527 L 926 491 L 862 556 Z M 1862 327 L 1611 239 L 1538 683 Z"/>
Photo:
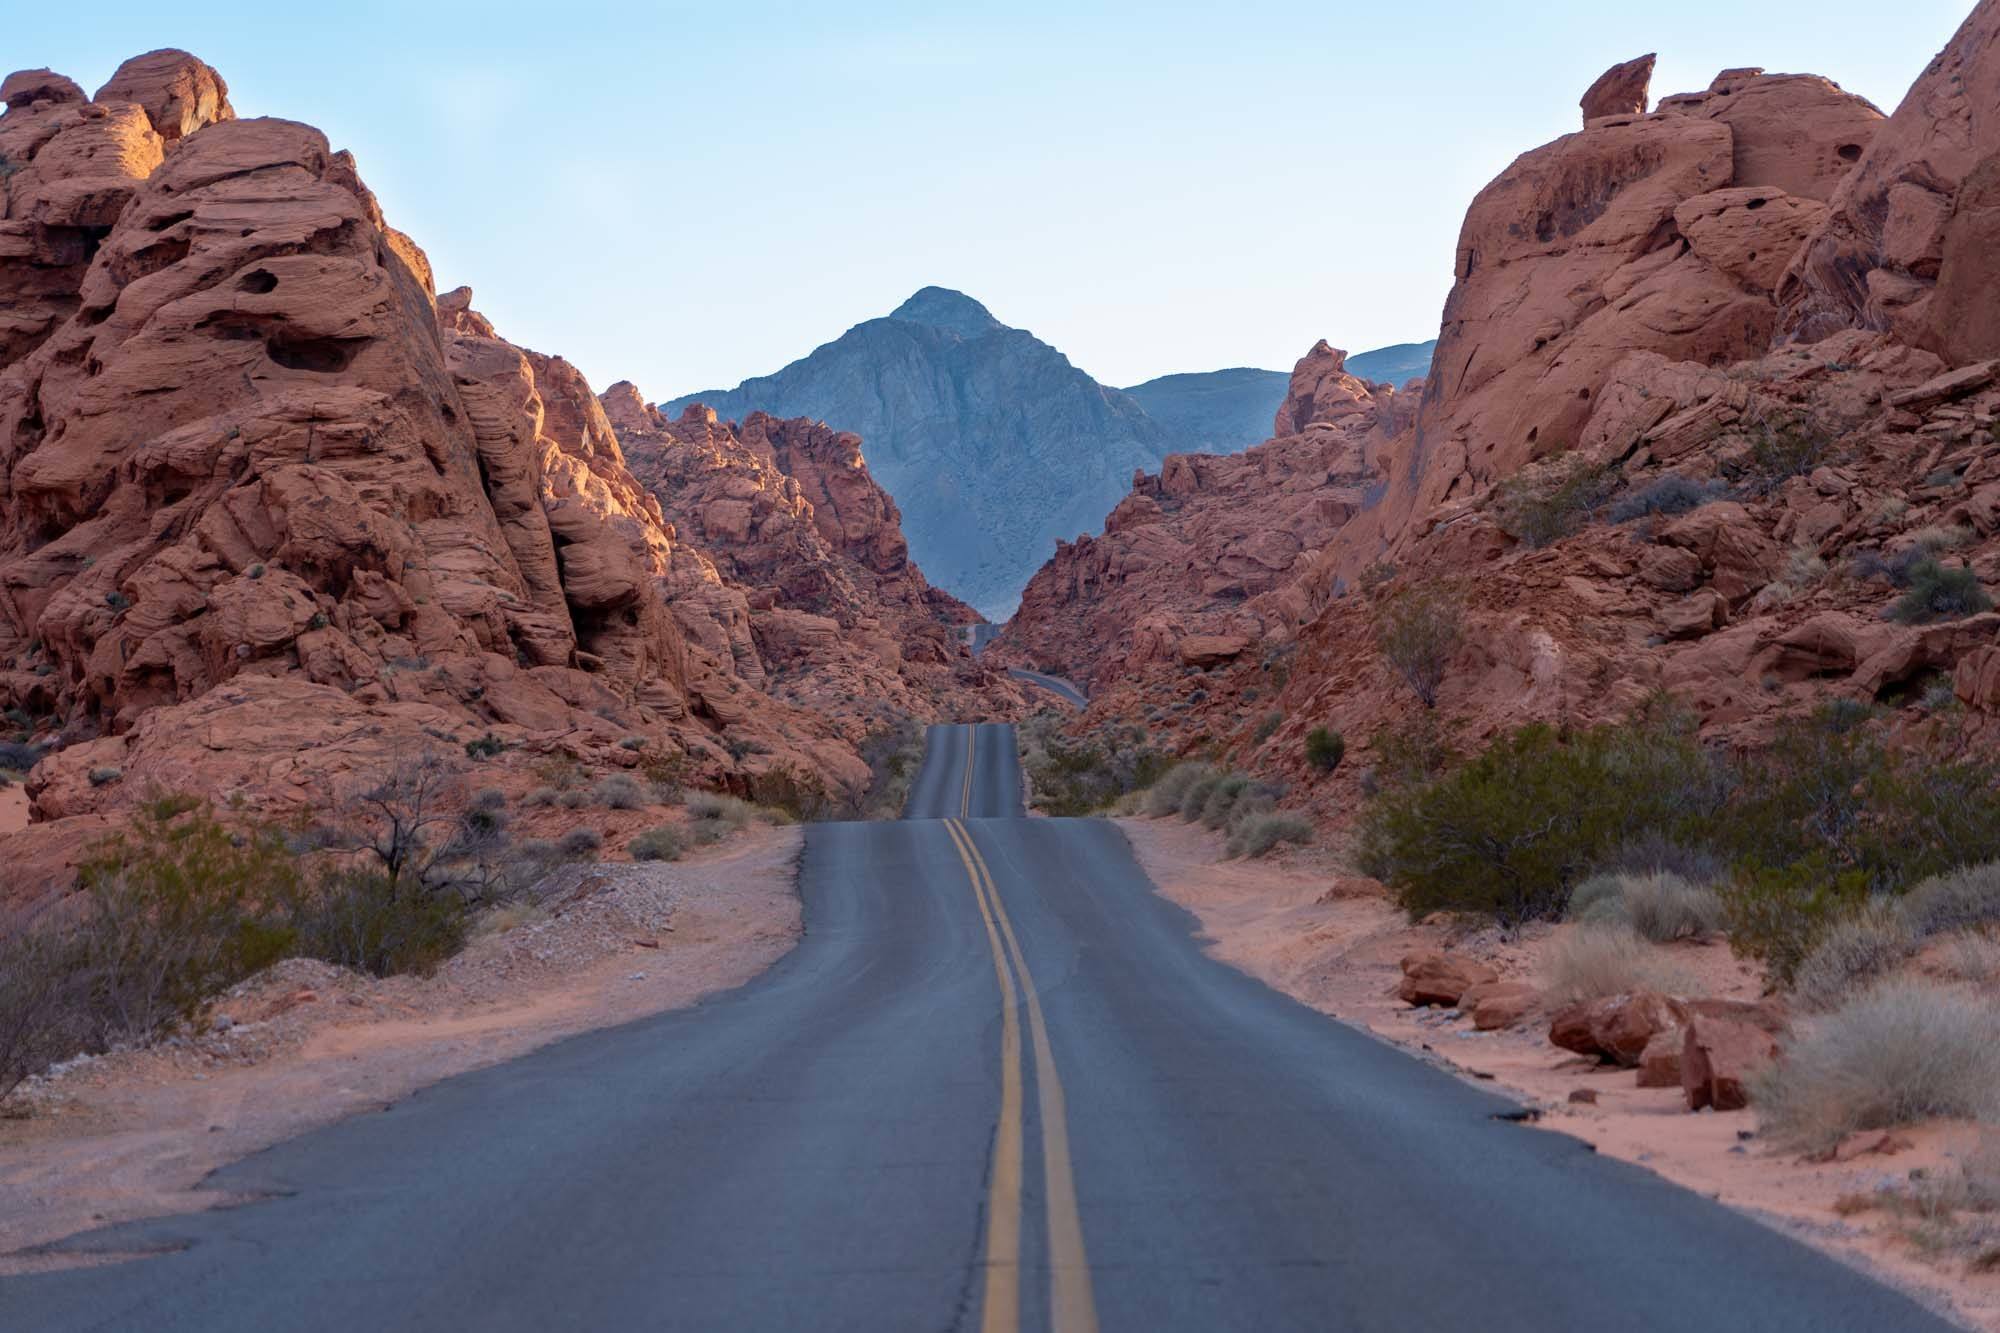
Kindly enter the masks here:
<path id="1" fill-rule="evenodd" d="M 1778 1143 L 1824 1149 L 1858 1129 L 1982 1119 L 2000 1097 L 2000 1011 L 1920 981 L 1886 981 L 1792 1039 L 1752 1085 Z"/>

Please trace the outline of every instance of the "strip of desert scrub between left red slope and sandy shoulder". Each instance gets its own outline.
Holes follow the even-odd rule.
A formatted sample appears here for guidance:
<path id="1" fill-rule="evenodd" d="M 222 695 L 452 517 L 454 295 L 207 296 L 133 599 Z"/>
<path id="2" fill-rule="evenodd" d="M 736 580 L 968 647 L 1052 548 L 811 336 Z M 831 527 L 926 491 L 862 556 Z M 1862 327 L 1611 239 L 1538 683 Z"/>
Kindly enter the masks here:
<path id="1" fill-rule="evenodd" d="M 542 787 L 522 805 L 624 813 L 684 803 L 684 823 L 626 843 L 634 861 L 674 861 L 756 819 L 788 819 L 738 797 L 684 793 L 668 769 L 588 779 L 574 761 L 544 759 Z M 506 793 L 472 787 L 476 775 L 476 761 L 456 755 L 400 759 L 344 793 L 324 821 L 290 825 L 180 795 L 144 801 L 124 831 L 88 849 L 72 901 L 0 923 L 0 1099 L 68 1057 L 198 1025 L 216 995 L 280 959 L 424 975 L 476 935 L 532 919 L 538 885 L 566 863 L 594 861 L 604 833 L 576 825 L 554 841 L 516 839 Z"/>

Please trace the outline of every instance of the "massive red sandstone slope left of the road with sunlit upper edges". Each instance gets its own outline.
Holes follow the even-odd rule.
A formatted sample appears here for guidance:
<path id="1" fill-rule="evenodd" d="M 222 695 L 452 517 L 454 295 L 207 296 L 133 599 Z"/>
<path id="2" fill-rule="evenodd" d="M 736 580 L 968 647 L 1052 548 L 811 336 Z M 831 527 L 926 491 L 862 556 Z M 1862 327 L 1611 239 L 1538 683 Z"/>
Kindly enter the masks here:
<path id="1" fill-rule="evenodd" d="M 866 781 L 690 642 L 702 556 L 590 386 L 436 298 L 318 130 L 172 50 L 0 100 L 0 709 L 54 747 L 12 891 L 152 791 L 324 807 L 434 745 Z"/>

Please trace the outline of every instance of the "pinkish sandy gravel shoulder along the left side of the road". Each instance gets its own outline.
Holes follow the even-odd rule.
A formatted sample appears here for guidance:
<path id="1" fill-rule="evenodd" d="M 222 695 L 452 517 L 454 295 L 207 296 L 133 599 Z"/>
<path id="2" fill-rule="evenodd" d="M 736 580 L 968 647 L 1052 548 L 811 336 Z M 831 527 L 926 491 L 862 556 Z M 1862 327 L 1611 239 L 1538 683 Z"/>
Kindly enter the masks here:
<path id="1" fill-rule="evenodd" d="M 228 1203 L 200 1181 L 282 1139 L 750 981 L 798 941 L 800 845 L 754 825 L 680 863 L 594 867 L 428 979 L 282 963 L 200 1037 L 24 1089 L 32 1115 L 0 1119 L 0 1275 L 50 1267 L 24 1247 Z"/>

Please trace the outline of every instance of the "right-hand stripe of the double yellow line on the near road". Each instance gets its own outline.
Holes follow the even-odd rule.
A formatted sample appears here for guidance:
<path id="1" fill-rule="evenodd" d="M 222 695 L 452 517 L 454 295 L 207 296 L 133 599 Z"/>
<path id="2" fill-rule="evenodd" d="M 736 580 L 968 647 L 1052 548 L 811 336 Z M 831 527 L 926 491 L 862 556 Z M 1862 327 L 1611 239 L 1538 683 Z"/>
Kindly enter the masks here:
<path id="1" fill-rule="evenodd" d="M 1034 1083 L 1042 1115 L 1042 1193 L 1048 1209 L 1048 1313 L 1056 1333 L 1096 1333 L 1098 1307 L 1090 1291 L 1090 1259 L 1084 1251 L 1084 1223 L 1076 1211 L 1076 1177 L 1070 1169 L 1070 1121 L 1062 1097 L 1062 1079 L 1056 1075 L 1056 1055 L 1048 1045 L 1048 1025 L 1042 1021 L 1042 1001 L 1034 991 L 1034 975 L 1014 937 L 1014 923 L 1000 901 L 986 857 L 980 855 L 972 833 L 956 821 L 944 821 L 946 831 L 958 845 L 958 855 L 972 875 L 972 891 L 980 897 L 980 915 L 986 917 L 988 943 L 992 943 L 994 921 L 1006 937 L 1008 957 L 1020 973 L 1020 993 L 1028 1001 L 1028 1031 L 1034 1037 Z M 990 905 L 990 907 L 988 907 Z M 996 945 L 998 947 L 998 945 Z M 1002 987 L 1002 995 L 1012 1009 L 1012 987 Z M 1002 1045 L 1004 1045 L 1002 1033 Z M 1002 1101 L 1006 1085 L 1002 1083 Z M 998 1177 L 998 1169 L 994 1173 Z M 1018 1205 L 1016 1205 L 1018 1207 Z M 988 1233 L 988 1247 L 992 1235 Z M 990 1289 L 988 1269 L 988 1289 Z M 990 1323 L 986 1325 L 992 1327 Z"/>

